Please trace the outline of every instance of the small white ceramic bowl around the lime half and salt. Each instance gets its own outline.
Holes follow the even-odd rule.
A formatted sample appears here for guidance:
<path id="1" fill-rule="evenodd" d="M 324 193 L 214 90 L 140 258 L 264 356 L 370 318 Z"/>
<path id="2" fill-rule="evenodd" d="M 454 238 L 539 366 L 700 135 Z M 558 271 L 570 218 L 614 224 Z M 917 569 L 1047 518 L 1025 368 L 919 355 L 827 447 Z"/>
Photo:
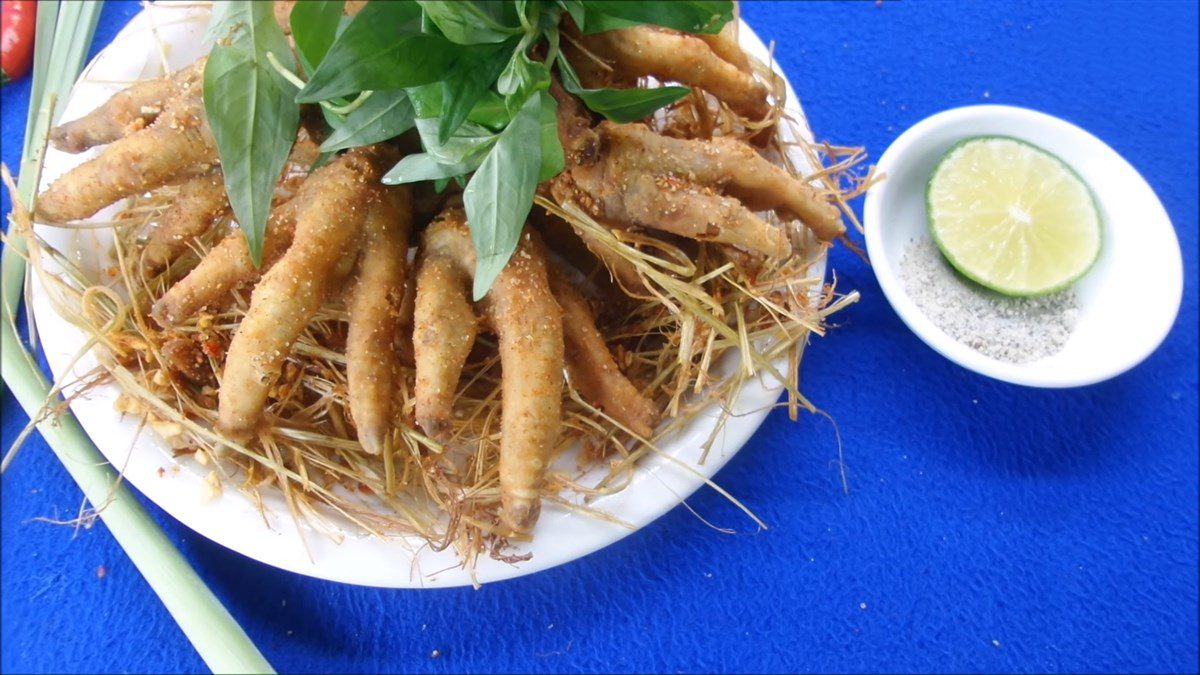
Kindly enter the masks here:
<path id="1" fill-rule="evenodd" d="M 1103 216 L 1100 258 L 1075 285 L 1079 319 L 1063 348 L 1013 364 L 984 356 L 935 325 L 900 279 L 908 243 L 928 239 L 925 183 L 952 145 L 973 136 L 1010 136 L 1070 165 L 1096 193 Z M 1079 387 L 1141 363 L 1171 329 L 1183 293 L 1175 229 L 1154 191 L 1112 148 L 1058 118 L 1010 106 L 971 106 L 916 124 L 880 159 L 884 180 L 866 193 L 866 251 L 900 318 L 946 358 L 976 372 L 1032 387 Z"/>

